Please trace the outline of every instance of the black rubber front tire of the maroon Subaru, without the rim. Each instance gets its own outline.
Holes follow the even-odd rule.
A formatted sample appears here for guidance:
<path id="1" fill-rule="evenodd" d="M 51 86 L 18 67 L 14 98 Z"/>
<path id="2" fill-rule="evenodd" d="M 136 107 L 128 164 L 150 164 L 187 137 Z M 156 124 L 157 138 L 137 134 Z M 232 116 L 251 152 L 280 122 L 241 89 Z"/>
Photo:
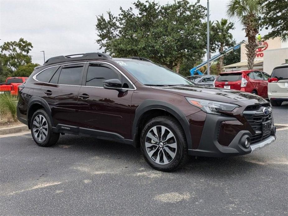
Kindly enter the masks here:
<path id="1" fill-rule="evenodd" d="M 148 152 L 145 147 L 145 139 L 147 133 L 154 127 L 154 126 L 164 126 L 168 128 L 176 139 L 177 149 L 174 159 L 171 159 L 168 164 L 158 164 L 152 158 L 149 157 Z M 174 138 L 173 138 L 174 139 Z M 141 142 L 141 151 L 144 155 L 144 159 L 146 162 L 156 170 L 160 171 L 173 171 L 180 167 L 182 167 L 188 158 L 188 148 L 187 148 L 187 141 L 184 134 L 184 131 L 178 121 L 169 116 L 159 116 L 149 120 L 141 133 L 140 137 Z"/>

